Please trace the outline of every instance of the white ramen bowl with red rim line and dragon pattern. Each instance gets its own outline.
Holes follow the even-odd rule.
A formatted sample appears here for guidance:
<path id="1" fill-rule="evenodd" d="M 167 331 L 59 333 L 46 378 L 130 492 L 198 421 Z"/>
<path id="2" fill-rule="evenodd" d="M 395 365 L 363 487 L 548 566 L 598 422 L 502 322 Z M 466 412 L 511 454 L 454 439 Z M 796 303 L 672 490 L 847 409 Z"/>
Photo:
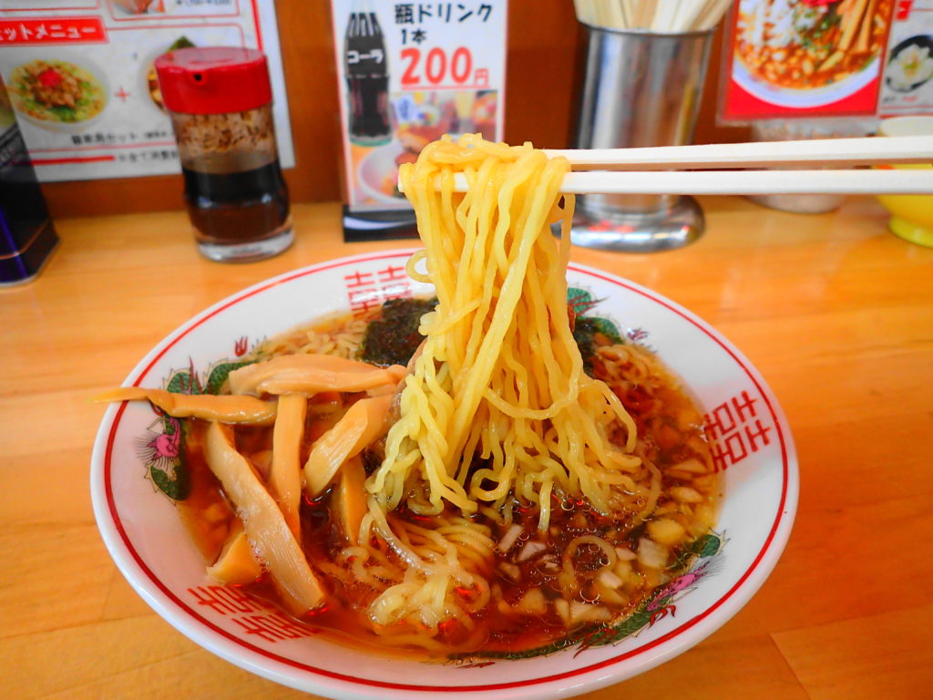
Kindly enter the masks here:
<path id="1" fill-rule="evenodd" d="M 174 370 L 209 382 L 213 369 L 279 332 L 385 299 L 430 294 L 431 287 L 404 273 L 412 252 L 332 260 L 244 289 L 174 330 L 126 384 L 161 387 Z M 120 571 L 205 649 L 267 679 L 334 698 L 566 697 L 688 650 L 745 605 L 784 548 L 798 493 L 790 429 L 759 372 L 703 320 L 599 270 L 571 264 L 567 280 L 574 299 L 592 301 L 586 315 L 653 349 L 681 377 L 705 414 L 723 472 L 717 526 L 702 551 L 599 639 L 568 637 L 548 648 L 480 651 L 467 660 L 390 655 L 319 633 L 265 599 L 209 580 L 176 513 L 178 463 L 171 449 L 157 449 L 161 417 L 143 402 L 106 410 L 91 457 L 94 513 Z"/>

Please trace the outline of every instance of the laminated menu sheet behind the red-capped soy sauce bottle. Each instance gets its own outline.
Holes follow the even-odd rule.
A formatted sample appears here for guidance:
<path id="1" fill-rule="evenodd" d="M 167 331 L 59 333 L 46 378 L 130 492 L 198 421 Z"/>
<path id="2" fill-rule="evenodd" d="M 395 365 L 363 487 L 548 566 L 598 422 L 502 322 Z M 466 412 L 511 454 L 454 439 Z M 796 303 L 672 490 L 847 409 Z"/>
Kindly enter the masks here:
<path id="1" fill-rule="evenodd" d="M 272 2 L 0 0 L 0 76 L 43 181 L 178 173 L 156 57 L 262 49 L 280 161 L 294 165 Z"/>

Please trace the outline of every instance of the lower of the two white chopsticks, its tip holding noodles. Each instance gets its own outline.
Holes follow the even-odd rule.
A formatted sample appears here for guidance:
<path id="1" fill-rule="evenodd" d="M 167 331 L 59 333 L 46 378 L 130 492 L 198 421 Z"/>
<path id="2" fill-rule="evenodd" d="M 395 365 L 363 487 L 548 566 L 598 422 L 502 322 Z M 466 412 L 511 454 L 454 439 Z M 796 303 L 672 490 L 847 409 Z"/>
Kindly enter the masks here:
<path id="1" fill-rule="evenodd" d="M 398 189 L 401 190 L 401 183 Z M 466 175 L 454 175 L 453 189 L 466 191 Z M 933 170 L 569 173 L 564 176 L 561 191 L 564 194 L 933 194 Z"/>

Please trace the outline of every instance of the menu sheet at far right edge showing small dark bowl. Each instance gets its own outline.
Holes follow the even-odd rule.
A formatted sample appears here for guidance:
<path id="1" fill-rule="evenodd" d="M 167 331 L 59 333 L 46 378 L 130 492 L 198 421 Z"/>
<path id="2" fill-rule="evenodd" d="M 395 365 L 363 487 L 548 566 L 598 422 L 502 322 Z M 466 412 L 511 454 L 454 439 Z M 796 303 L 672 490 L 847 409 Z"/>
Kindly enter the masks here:
<path id="1" fill-rule="evenodd" d="M 933 0 L 898 2 L 879 112 L 933 114 Z"/>

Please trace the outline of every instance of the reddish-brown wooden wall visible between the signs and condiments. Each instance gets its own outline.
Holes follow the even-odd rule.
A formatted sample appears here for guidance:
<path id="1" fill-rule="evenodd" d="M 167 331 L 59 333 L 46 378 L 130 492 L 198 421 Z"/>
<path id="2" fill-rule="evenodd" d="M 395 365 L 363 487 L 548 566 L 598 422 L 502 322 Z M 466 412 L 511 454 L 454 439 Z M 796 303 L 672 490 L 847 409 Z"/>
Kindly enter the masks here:
<path id="1" fill-rule="evenodd" d="M 546 9 L 546 11 L 544 11 Z M 330 3 L 277 0 L 296 166 L 285 171 L 293 203 L 341 199 L 341 123 Z M 717 81 L 723 27 L 706 74 L 695 143 L 749 139 L 746 127 L 718 126 Z M 586 36 L 570 2 L 509 0 L 505 140 L 569 147 L 573 140 Z M 53 218 L 184 207 L 177 175 L 49 182 Z"/>

